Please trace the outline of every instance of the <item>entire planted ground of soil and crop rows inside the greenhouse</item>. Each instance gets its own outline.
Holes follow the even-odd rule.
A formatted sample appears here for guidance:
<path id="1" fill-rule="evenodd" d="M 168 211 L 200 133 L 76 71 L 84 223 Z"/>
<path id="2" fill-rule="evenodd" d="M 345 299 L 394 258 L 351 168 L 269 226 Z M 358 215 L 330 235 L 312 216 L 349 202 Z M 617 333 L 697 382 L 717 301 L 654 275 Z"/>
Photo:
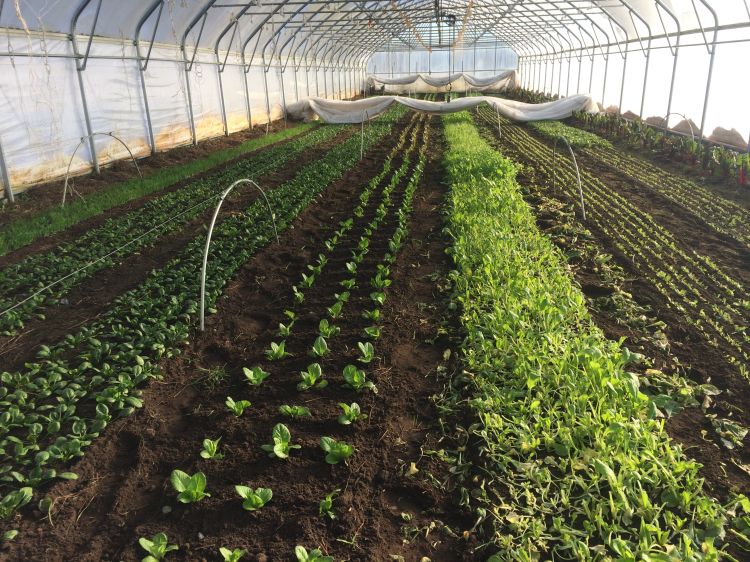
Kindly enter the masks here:
<path id="1" fill-rule="evenodd" d="M 746 209 L 496 125 L 298 125 L 0 258 L 114 252 L 0 317 L 0 558 L 742 560 Z M 279 238 L 230 197 L 200 332 L 242 177 Z"/>

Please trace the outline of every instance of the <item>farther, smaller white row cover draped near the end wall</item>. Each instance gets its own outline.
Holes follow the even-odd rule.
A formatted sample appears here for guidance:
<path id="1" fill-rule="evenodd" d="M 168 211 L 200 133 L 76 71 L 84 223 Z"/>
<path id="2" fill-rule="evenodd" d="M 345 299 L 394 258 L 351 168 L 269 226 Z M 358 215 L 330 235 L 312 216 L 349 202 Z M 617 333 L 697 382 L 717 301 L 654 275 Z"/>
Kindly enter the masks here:
<path id="1" fill-rule="evenodd" d="M 412 74 L 387 78 L 370 75 L 367 78 L 370 89 L 388 94 L 436 94 L 444 92 L 502 92 L 518 85 L 518 73 L 506 70 L 495 76 L 479 78 L 471 74 Z"/>

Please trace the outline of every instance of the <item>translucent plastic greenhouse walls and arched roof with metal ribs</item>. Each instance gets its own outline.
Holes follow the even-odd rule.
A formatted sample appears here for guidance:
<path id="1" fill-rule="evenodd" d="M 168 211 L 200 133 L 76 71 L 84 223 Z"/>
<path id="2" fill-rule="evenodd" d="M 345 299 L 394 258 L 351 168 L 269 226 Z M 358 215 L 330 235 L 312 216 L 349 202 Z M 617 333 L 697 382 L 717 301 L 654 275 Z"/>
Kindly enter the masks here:
<path id="1" fill-rule="evenodd" d="M 705 137 L 736 128 L 735 145 L 750 131 L 748 0 L 0 0 L 0 31 L 6 194 L 128 157 L 108 134 L 147 156 L 368 76 L 401 94 L 506 76 Z"/>

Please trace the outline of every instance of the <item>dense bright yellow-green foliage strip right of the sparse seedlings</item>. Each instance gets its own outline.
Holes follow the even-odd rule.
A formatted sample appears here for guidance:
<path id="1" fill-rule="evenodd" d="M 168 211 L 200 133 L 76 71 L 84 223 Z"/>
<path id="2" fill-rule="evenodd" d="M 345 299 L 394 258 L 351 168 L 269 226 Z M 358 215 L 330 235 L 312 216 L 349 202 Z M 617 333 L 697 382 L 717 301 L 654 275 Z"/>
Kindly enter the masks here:
<path id="1" fill-rule="evenodd" d="M 448 229 L 492 560 L 714 560 L 721 507 L 604 338 L 513 164 L 446 117 Z M 484 511 L 483 511 L 484 510 Z"/>

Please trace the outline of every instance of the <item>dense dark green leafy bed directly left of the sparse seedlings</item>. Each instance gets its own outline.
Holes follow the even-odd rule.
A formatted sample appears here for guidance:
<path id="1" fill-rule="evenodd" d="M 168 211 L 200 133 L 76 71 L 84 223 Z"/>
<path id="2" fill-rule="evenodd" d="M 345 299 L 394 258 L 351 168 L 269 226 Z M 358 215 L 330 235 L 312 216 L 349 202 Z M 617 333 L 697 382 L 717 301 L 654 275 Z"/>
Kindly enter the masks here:
<path id="1" fill-rule="evenodd" d="M 405 110 L 394 108 L 368 129 L 365 148 L 378 143 Z M 351 137 L 268 193 L 279 230 L 359 159 Z M 226 219 L 214 232 L 208 261 L 207 303 L 250 257 L 273 238 L 262 202 Z M 157 362 L 179 353 L 197 310 L 204 236 L 125 293 L 96 321 L 18 372 L 0 374 L 0 485 L 36 486 L 83 448 L 114 416 L 141 405 L 138 386 L 158 374 Z"/>

